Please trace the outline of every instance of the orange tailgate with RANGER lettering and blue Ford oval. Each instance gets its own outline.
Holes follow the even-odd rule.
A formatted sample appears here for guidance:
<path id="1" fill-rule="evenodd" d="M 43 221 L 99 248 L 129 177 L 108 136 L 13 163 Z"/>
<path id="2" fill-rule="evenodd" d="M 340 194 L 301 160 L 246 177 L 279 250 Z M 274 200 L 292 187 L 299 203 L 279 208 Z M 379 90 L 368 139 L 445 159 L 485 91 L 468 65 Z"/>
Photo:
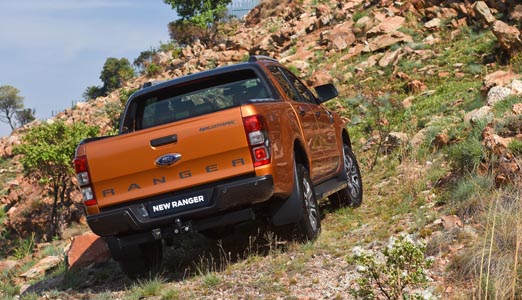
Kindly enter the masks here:
<path id="1" fill-rule="evenodd" d="M 100 208 L 254 172 L 240 107 L 88 143 L 86 154 Z"/>

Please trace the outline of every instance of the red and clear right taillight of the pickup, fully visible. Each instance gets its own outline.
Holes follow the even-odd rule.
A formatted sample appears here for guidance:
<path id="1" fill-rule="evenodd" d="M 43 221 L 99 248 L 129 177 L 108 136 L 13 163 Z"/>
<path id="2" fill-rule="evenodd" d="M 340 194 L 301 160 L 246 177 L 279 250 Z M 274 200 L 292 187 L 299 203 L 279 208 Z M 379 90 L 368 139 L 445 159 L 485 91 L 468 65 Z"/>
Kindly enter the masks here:
<path id="1" fill-rule="evenodd" d="M 270 163 L 270 140 L 265 119 L 260 115 L 243 118 L 254 167 Z"/>

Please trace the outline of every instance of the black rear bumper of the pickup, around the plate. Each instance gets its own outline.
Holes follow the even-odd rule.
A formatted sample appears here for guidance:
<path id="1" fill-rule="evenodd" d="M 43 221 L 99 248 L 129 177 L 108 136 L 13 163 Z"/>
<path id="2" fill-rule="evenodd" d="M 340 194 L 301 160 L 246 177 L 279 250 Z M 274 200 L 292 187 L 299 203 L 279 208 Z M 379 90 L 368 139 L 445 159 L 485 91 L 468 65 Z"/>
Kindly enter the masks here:
<path id="1" fill-rule="evenodd" d="M 191 190 L 190 194 L 197 192 L 197 189 Z M 166 215 L 150 217 L 147 205 L 173 197 L 163 195 L 87 216 L 87 223 L 99 236 L 132 236 L 145 233 L 156 239 L 158 230 L 168 231 L 172 227 L 179 227 L 180 224 L 190 224 L 191 230 L 199 231 L 239 223 L 254 218 L 252 204 L 270 199 L 274 193 L 274 183 L 271 175 L 259 176 L 216 185 L 201 190 L 201 193 L 209 195 L 210 198 L 209 204 L 204 207 L 185 211 L 173 210 Z M 155 236 L 152 230 L 156 230 Z"/>

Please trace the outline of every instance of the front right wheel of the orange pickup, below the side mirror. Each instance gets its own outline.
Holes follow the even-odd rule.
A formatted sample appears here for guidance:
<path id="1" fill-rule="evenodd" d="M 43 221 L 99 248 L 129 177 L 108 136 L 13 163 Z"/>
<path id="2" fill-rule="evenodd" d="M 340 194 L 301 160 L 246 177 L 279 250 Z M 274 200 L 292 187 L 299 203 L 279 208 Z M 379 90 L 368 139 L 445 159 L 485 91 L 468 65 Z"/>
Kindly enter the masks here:
<path id="1" fill-rule="evenodd" d="M 340 207 L 359 207 L 362 203 L 363 195 L 363 183 L 361 178 L 361 170 L 357 159 L 352 152 L 352 149 L 348 145 L 343 146 L 344 156 L 344 174 L 343 178 L 346 178 L 348 185 L 346 188 L 332 194 L 328 199 L 333 204 Z"/>

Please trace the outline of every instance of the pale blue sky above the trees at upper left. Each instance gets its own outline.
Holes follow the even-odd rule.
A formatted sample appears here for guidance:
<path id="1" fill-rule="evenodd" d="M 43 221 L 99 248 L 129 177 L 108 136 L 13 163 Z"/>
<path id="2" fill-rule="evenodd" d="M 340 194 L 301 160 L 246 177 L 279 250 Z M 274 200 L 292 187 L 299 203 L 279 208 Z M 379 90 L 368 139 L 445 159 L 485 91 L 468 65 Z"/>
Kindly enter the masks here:
<path id="1" fill-rule="evenodd" d="M 168 42 L 175 18 L 163 0 L 0 0 L 0 86 L 20 90 L 46 120 L 102 85 L 108 57 L 132 63 Z M 0 123 L 0 136 L 10 133 Z"/>

